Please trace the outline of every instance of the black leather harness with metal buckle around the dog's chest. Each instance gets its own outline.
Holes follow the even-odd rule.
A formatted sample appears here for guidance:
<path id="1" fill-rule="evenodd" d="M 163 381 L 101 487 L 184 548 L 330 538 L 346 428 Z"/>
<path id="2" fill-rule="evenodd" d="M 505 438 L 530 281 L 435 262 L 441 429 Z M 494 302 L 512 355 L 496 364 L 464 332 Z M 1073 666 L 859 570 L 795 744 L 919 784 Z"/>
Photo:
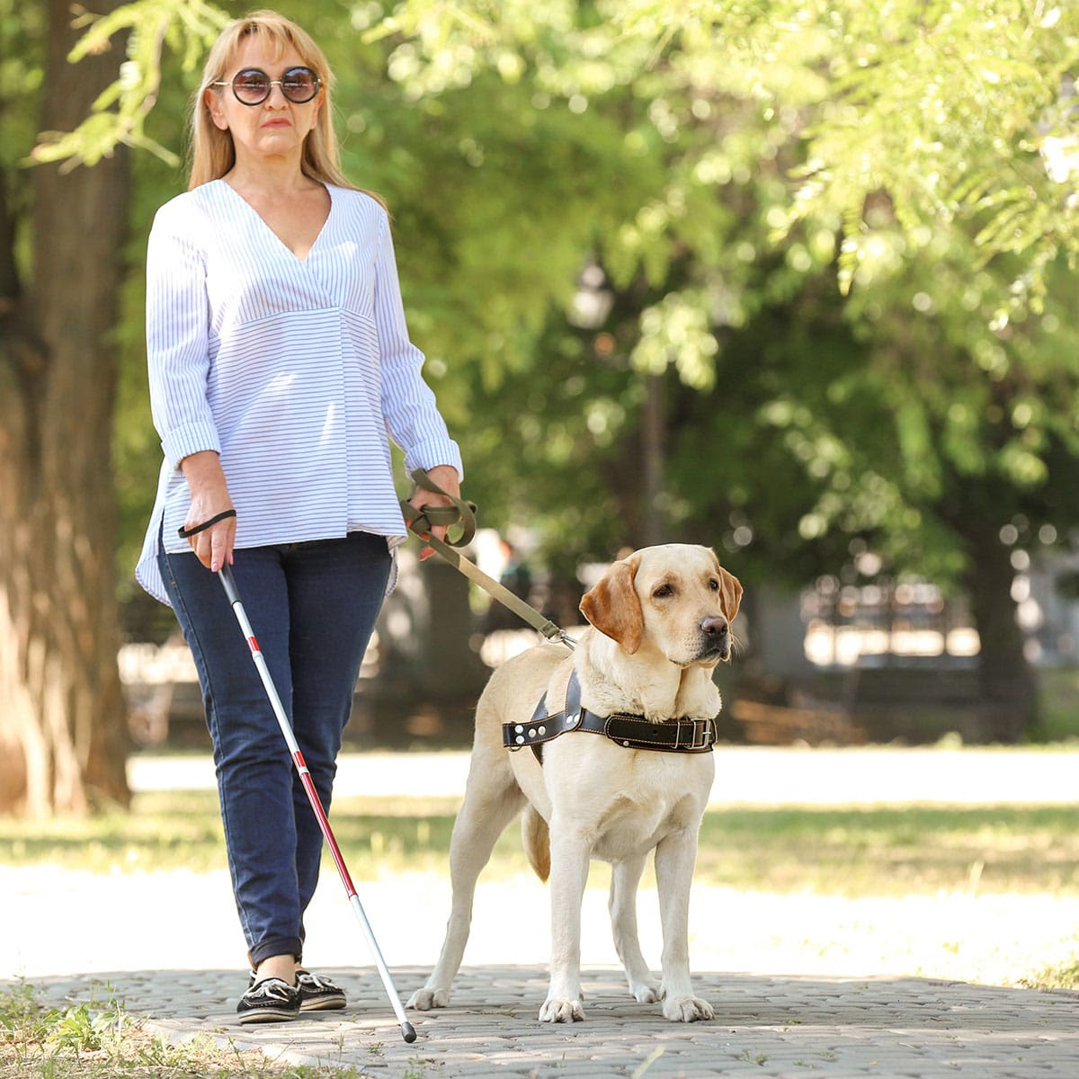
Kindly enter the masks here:
<path id="1" fill-rule="evenodd" d="M 502 743 L 511 750 L 530 747 L 542 764 L 543 743 L 570 730 L 587 730 L 604 735 L 627 749 L 648 749 L 661 753 L 711 753 L 716 736 L 714 719 L 655 723 L 643 715 L 623 712 L 597 715 L 589 712 L 581 707 L 581 683 L 574 670 L 566 683 L 563 707 L 551 712 L 547 707 L 547 694 L 544 694 L 528 723 L 502 725 Z"/>

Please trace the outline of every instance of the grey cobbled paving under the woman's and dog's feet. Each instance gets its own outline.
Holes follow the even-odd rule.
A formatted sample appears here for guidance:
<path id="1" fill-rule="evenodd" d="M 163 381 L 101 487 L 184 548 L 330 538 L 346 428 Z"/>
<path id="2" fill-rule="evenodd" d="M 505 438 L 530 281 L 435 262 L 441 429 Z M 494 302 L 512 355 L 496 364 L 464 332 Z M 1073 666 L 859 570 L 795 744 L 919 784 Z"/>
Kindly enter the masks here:
<path id="1" fill-rule="evenodd" d="M 1075 1079 L 1079 995 L 923 979 L 698 975 L 709 1023 L 667 1022 L 629 998 L 620 973 L 589 970 L 584 1023 L 535 1020 L 546 982 L 537 967 L 467 967 L 450 1007 L 413 1013 L 406 1044 L 378 975 L 331 971 L 350 995 L 343 1012 L 261 1027 L 235 1022 L 235 971 L 101 973 L 36 982 L 65 1000 L 127 999 L 155 1017 L 152 1030 L 183 1041 L 210 1033 L 292 1064 L 352 1065 L 386 1079 Z M 394 978 L 402 994 L 425 971 Z M 132 1001 L 138 1009 L 131 1008 Z"/>

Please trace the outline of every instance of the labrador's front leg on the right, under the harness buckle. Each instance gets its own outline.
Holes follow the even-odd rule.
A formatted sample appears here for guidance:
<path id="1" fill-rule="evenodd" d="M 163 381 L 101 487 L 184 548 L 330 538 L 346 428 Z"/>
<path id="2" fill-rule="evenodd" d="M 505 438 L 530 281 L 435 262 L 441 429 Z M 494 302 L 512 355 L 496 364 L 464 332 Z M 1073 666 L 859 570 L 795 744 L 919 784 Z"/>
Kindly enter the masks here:
<path id="1" fill-rule="evenodd" d="M 672 832 L 656 847 L 656 886 L 664 929 L 664 1015 L 677 1023 L 715 1019 L 689 980 L 689 885 L 697 861 L 697 830 Z"/>

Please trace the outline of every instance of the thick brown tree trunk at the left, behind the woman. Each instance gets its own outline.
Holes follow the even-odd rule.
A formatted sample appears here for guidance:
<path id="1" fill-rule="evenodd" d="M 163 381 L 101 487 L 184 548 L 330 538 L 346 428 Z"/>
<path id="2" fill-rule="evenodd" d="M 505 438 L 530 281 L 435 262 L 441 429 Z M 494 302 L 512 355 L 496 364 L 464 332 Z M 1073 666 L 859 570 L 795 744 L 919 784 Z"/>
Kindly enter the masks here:
<path id="1" fill-rule="evenodd" d="M 98 5 L 110 10 L 114 2 Z M 42 128 L 70 131 L 118 73 L 72 65 L 68 0 L 49 0 Z M 126 803 L 117 667 L 111 421 L 128 161 L 37 166 L 32 270 L 0 255 L 0 811 Z M 0 238 L 14 235 L 0 190 Z"/>

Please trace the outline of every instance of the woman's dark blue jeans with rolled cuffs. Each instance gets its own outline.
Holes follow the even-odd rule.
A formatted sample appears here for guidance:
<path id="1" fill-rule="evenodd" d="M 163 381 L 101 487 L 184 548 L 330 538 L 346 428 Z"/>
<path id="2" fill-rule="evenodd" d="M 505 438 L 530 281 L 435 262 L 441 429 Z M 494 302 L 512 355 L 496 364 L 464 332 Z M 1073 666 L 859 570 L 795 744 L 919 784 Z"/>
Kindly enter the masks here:
<path id="1" fill-rule="evenodd" d="M 318 821 L 217 575 L 193 551 L 161 551 L 158 562 L 202 685 L 248 959 L 300 958 L 322 857 Z M 364 532 L 234 551 L 244 609 L 327 812 L 390 565 L 385 537 Z"/>

